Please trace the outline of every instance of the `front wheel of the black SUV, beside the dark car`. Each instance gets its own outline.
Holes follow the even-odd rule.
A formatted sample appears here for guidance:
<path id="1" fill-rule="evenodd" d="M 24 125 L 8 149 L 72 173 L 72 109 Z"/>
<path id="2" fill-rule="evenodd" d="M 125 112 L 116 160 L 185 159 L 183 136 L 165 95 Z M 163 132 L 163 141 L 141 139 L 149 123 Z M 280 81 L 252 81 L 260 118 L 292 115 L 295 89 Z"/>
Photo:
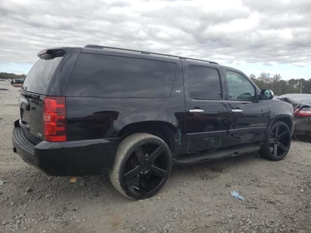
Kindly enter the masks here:
<path id="1" fill-rule="evenodd" d="M 279 161 L 283 159 L 291 147 L 291 131 L 283 121 L 276 121 L 269 130 L 266 141 L 259 150 L 265 159 Z"/>

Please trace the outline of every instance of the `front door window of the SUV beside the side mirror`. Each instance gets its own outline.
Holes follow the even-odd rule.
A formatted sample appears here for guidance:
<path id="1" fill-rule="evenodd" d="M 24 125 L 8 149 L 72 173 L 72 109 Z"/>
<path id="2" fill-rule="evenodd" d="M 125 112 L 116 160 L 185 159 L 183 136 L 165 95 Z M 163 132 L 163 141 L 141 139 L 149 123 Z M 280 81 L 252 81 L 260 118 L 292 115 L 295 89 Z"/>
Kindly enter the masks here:
<path id="1" fill-rule="evenodd" d="M 231 100 L 256 100 L 255 87 L 244 76 L 226 71 L 226 79 Z"/>

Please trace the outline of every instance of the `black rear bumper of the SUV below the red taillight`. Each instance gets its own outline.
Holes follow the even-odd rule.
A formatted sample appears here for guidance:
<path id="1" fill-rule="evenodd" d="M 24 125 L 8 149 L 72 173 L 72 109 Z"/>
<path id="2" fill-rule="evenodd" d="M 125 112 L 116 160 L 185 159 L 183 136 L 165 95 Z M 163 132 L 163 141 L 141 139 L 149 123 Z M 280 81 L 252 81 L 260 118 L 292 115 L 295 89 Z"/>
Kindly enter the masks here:
<path id="1" fill-rule="evenodd" d="M 33 144 L 15 125 L 13 150 L 28 164 L 52 176 L 96 175 L 111 168 L 121 139 L 69 142 L 42 141 Z"/>

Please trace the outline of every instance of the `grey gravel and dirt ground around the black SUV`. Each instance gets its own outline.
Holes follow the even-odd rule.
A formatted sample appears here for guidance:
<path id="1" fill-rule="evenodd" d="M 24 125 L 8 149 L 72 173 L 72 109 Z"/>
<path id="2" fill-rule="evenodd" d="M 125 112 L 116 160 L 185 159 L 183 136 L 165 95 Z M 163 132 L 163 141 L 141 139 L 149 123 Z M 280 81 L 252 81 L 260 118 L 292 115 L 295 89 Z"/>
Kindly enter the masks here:
<path id="1" fill-rule="evenodd" d="M 258 154 L 173 167 L 148 200 L 123 198 L 108 175 L 50 177 L 13 153 L 19 88 L 0 82 L 0 232 L 311 233 L 311 143 L 279 162 Z M 236 190 L 245 200 L 230 195 Z"/>

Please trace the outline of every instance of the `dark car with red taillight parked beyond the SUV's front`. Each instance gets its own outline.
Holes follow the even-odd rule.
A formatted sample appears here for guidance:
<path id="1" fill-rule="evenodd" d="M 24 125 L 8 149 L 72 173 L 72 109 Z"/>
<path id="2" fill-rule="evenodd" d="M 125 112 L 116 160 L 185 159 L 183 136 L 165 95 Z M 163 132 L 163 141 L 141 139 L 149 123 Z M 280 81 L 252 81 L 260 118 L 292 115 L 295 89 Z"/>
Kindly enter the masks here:
<path id="1" fill-rule="evenodd" d="M 285 94 L 277 97 L 291 103 L 294 108 L 295 133 L 311 135 L 311 94 Z"/>

